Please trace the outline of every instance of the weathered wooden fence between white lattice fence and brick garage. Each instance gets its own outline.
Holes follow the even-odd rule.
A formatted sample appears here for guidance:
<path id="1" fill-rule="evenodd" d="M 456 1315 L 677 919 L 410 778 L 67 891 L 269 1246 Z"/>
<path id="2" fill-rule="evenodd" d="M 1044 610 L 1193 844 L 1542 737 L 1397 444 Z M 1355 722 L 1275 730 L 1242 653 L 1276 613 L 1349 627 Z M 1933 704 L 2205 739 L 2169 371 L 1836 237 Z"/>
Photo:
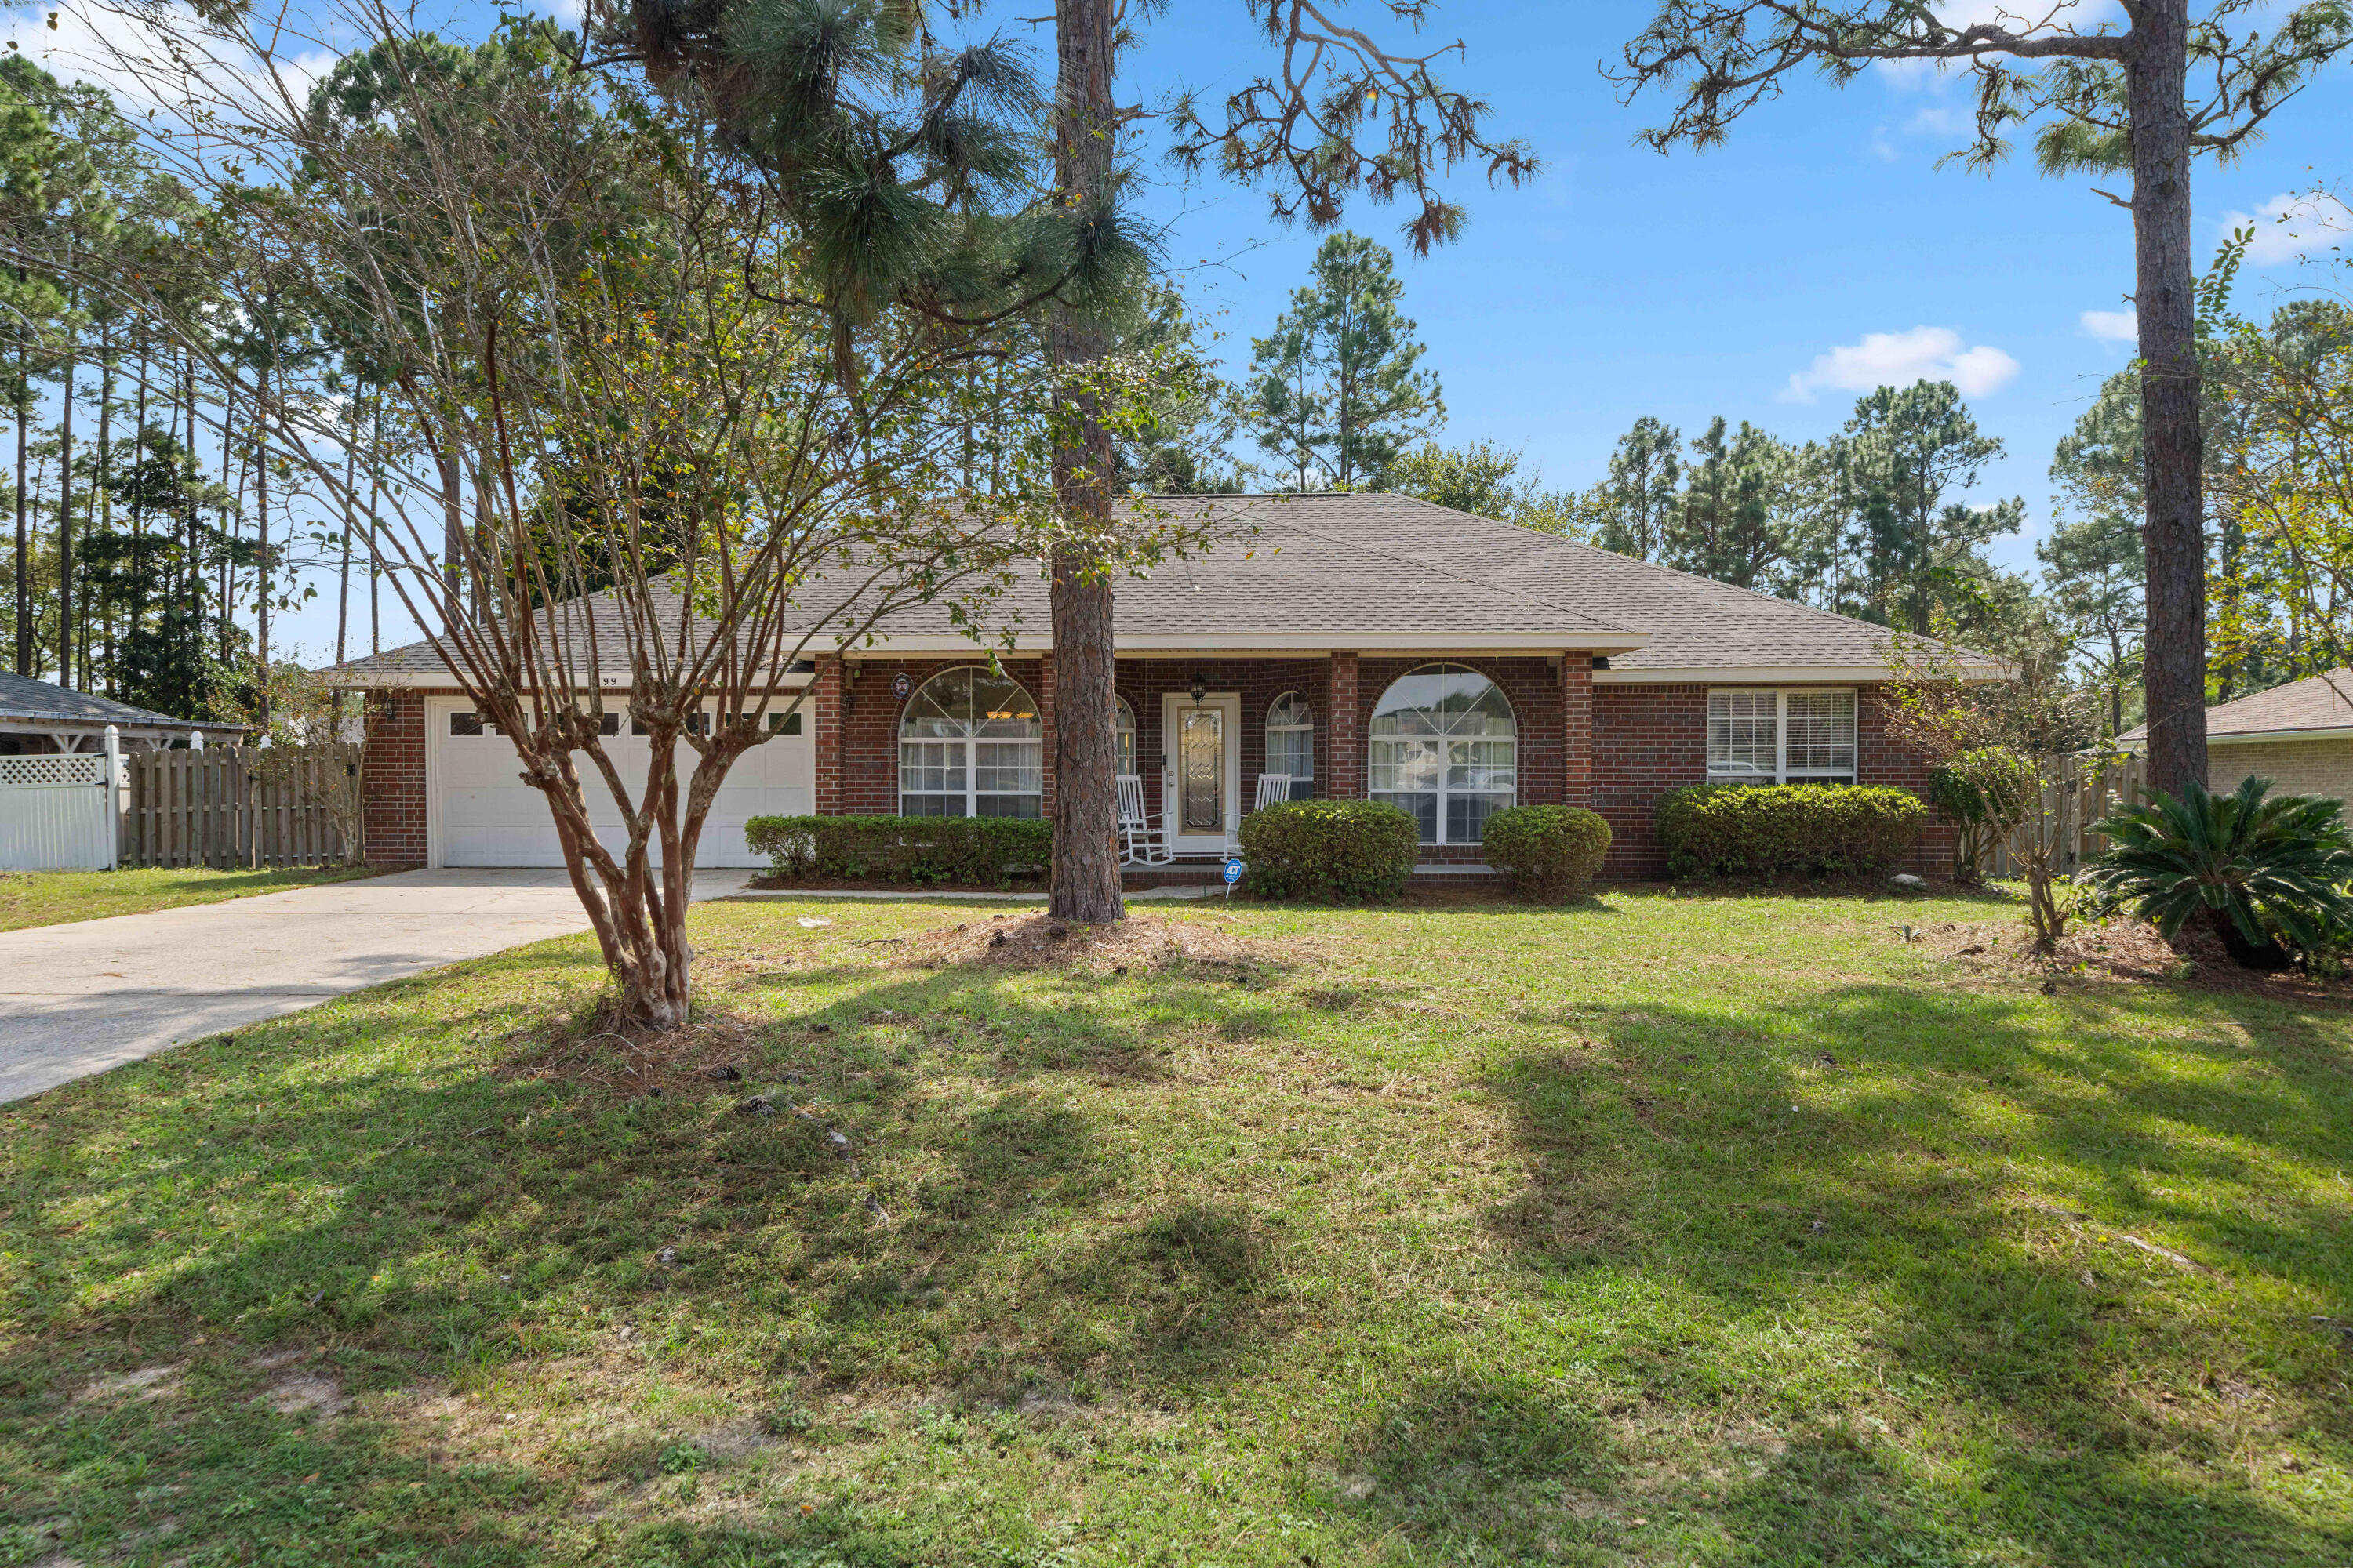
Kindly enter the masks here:
<path id="1" fill-rule="evenodd" d="M 325 769 L 358 766 L 360 748 L 278 748 L 268 769 L 259 759 L 242 745 L 125 757 L 122 865 L 341 865 L 322 780 Z"/>

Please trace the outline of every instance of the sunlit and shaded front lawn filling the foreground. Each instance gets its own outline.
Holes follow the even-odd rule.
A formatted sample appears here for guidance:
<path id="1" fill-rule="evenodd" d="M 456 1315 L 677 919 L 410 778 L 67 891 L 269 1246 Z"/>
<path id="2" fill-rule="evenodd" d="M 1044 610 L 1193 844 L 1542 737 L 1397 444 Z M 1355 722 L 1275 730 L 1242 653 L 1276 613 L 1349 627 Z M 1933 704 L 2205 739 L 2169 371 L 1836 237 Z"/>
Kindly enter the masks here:
<path id="1" fill-rule="evenodd" d="M 0 1556 L 2353 1561 L 2353 1018 L 2012 912 L 704 905 L 671 1037 L 184 1046 L 0 1110 Z"/>

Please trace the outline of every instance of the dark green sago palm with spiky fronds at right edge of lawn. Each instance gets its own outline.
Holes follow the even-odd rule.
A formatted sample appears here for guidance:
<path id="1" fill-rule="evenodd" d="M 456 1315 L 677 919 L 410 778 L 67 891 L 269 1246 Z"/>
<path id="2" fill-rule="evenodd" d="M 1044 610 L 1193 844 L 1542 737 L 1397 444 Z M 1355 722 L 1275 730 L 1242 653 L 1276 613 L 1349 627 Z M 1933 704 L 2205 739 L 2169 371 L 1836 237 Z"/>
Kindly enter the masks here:
<path id="1" fill-rule="evenodd" d="M 2320 795 L 2271 795 L 2249 778 L 2231 795 L 2191 785 L 2146 806 L 2118 806 L 2094 832 L 2111 849 L 2085 882 L 2132 905 L 2167 938 L 2193 914 L 2249 969 L 2287 961 L 2278 938 L 2297 950 L 2322 940 L 2332 922 L 2353 914 L 2353 842 L 2339 804 Z"/>

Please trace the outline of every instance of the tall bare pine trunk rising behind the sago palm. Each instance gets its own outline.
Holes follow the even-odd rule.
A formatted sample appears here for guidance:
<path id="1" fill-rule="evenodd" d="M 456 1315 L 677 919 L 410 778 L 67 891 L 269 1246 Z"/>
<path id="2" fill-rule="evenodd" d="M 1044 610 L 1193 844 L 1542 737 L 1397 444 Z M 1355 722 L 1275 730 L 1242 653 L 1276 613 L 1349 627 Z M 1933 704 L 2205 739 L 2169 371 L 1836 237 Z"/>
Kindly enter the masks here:
<path id="1" fill-rule="evenodd" d="M 2148 788 L 2205 785 L 2205 503 L 2198 299 L 2191 259 L 2188 0 L 2137 7 L 2132 108 L 2134 308 L 2141 327 L 2141 489 L 2148 564 Z"/>

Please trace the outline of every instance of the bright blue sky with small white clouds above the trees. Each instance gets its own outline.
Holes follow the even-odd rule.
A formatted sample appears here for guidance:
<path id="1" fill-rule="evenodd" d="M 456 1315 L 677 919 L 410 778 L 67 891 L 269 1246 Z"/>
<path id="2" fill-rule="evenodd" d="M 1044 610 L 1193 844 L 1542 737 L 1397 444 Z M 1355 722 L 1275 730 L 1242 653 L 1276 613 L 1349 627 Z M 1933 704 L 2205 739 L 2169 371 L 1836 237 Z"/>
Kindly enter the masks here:
<path id="1" fill-rule="evenodd" d="M 1019 16 L 1033 9 L 1049 7 L 998 5 L 984 21 L 1026 40 Z M 1374 0 L 1339 9 L 1395 35 Z M 496 12 L 464 2 L 424 14 L 447 14 L 442 31 L 464 35 Z M 1647 0 L 1433 7 L 1424 40 L 1464 40 L 1447 80 L 1492 103 L 1494 134 L 1544 160 L 1520 190 L 1461 172 L 1471 221 L 1428 259 L 1398 244 L 1407 212 L 1358 202 L 1346 214 L 1348 228 L 1400 249 L 1405 303 L 1445 383 L 1442 440 L 1492 440 L 1525 451 L 1548 484 L 1584 487 L 1642 414 L 1687 435 L 1725 414 L 1807 440 L 1833 433 L 1878 378 L 1951 376 L 2007 444 L 1977 498 L 2028 503 L 2028 531 L 1995 557 L 2031 567 L 2052 444 L 2129 353 L 2087 327 L 2087 313 L 2108 313 L 2111 334 L 2129 329 L 2127 214 L 2092 193 L 2101 181 L 2042 179 L 2031 165 L 1934 169 L 1960 143 L 1969 96 L 1929 73 L 1875 71 L 1845 89 L 1807 78 L 1737 122 L 1725 148 L 1638 148 L 1635 132 L 1666 106 L 1621 106 L 1600 63 L 1649 14 Z M 28 12 L 0 16 L 0 33 L 35 52 L 59 40 Z M 1181 85 L 1217 101 L 1261 59 L 1240 0 L 1176 0 L 1146 24 L 1120 87 L 1144 106 Z M 2353 63 L 2341 63 L 2273 115 L 2240 162 L 2200 162 L 2200 252 L 2233 214 L 2268 214 L 2315 181 L 2353 176 L 2348 125 Z M 1184 186 L 1158 158 L 1141 172 L 1167 263 L 1240 369 L 1249 336 L 1306 277 L 1318 235 L 1273 226 L 1261 193 L 1217 176 Z M 2268 310 L 2311 277 L 2287 240 L 2264 226 L 2242 308 Z M 289 630 L 315 651 L 332 609 L 304 611 Z"/>

